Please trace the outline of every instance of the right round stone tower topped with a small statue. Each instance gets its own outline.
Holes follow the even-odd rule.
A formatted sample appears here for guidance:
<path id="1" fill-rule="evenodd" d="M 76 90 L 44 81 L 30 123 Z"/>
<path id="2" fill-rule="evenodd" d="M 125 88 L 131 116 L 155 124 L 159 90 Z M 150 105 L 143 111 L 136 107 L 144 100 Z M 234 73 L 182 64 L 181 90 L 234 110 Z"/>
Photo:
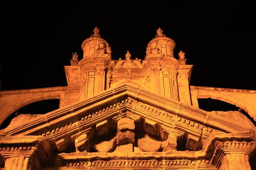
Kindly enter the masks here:
<path id="1" fill-rule="evenodd" d="M 177 70 L 179 62 L 174 58 L 175 42 L 158 28 L 157 35 L 148 43 L 145 60 L 151 63 L 154 92 L 179 100 Z"/>

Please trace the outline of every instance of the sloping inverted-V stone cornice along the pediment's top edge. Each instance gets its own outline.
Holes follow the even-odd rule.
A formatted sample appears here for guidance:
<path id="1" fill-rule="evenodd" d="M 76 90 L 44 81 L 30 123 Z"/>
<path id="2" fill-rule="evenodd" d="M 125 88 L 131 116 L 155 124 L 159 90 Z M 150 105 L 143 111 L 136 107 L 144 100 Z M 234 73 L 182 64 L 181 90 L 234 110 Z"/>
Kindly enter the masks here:
<path id="1" fill-rule="evenodd" d="M 212 115 L 209 112 L 195 108 L 191 105 L 183 104 L 174 99 L 153 94 L 140 89 L 137 85 L 129 83 L 123 83 L 110 88 L 106 91 L 100 92 L 99 94 L 87 98 L 83 101 L 75 102 L 69 106 L 59 108 L 55 111 L 49 112 L 45 115 L 38 116 L 34 119 L 24 122 L 23 125 L 16 127 L 10 127 L 6 131 L 6 134 L 31 134 L 34 130 L 47 128 L 51 130 L 53 125 L 65 122 L 70 119 L 76 120 L 78 116 L 86 114 L 90 109 L 97 107 L 103 107 L 109 103 L 117 104 L 118 100 L 131 97 L 137 101 L 143 102 L 147 105 L 151 105 L 155 108 L 160 108 L 169 113 L 173 113 L 178 117 L 189 119 L 191 121 L 198 122 L 199 124 L 208 125 L 224 132 L 231 131 L 247 131 L 241 125 L 233 125 L 231 121 L 218 116 Z"/>

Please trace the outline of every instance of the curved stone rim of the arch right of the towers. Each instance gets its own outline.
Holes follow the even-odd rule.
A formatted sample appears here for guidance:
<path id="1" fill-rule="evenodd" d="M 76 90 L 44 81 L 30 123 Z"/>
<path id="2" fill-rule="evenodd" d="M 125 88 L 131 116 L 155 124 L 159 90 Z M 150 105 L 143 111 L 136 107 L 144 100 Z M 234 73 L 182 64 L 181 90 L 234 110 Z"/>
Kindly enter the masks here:
<path id="1" fill-rule="evenodd" d="M 236 105 L 237 107 L 239 107 L 239 108 L 243 109 L 245 112 L 247 112 L 249 115 L 250 115 L 250 113 L 253 113 L 253 111 L 251 111 L 251 109 L 246 104 L 244 104 L 244 102 L 242 102 L 241 100 L 235 99 L 233 97 L 226 96 L 223 94 L 212 93 L 212 92 L 209 94 L 206 92 L 203 92 L 203 93 L 199 92 L 197 98 L 198 99 L 210 98 L 210 99 L 220 100 L 223 102 L 230 103 L 232 105 Z M 250 115 L 250 116 L 252 116 L 252 115 Z"/>

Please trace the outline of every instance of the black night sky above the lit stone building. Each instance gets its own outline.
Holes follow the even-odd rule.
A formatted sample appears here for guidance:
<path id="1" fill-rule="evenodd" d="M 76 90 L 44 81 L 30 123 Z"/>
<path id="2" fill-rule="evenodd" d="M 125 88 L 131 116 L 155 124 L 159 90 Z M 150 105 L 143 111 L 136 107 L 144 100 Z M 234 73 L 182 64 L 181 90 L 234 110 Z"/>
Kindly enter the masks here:
<path id="1" fill-rule="evenodd" d="M 64 65 L 99 28 L 112 58 L 144 59 L 161 28 L 194 65 L 190 85 L 256 90 L 255 10 L 237 1 L 12 2 L 1 6 L 1 91 L 66 86 Z"/>

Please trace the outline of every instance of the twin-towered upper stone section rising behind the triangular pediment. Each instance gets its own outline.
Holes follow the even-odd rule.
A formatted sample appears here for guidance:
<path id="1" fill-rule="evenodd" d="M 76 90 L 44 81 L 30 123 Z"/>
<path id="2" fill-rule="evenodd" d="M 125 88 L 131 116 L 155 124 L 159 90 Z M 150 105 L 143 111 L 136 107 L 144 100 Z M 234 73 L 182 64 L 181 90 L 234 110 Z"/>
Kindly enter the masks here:
<path id="1" fill-rule="evenodd" d="M 73 54 L 71 66 L 65 66 L 68 91 L 60 106 L 93 96 L 123 82 L 139 85 L 155 94 L 160 94 L 177 101 L 197 105 L 192 102 L 189 81 L 193 65 L 186 65 L 185 56 L 175 59 L 175 42 L 157 29 L 156 36 L 148 42 L 144 60 L 127 51 L 125 59 L 113 60 L 111 47 L 99 35 L 95 27 L 81 48 L 83 58 L 79 61 Z M 76 54 L 77 55 L 77 54 Z M 69 99 L 66 101 L 65 99 Z"/>

